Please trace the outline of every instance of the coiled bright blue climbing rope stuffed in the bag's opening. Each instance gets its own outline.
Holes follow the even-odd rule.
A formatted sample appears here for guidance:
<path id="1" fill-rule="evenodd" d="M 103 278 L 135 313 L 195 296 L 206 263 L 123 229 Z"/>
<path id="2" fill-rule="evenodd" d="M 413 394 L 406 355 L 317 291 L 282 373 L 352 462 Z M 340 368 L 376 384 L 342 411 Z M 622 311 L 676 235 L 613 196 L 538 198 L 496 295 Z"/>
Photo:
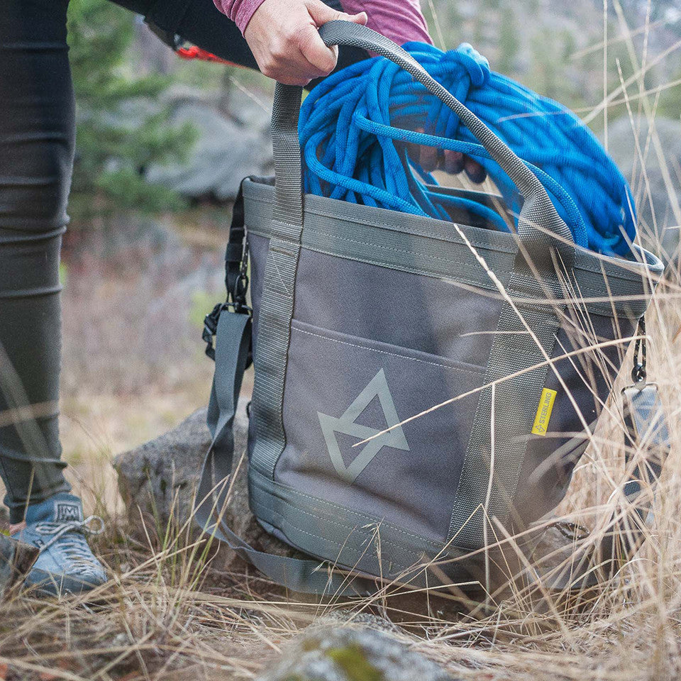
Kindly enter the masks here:
<path id="1" fill-rule="evenodd" d="M 636 214 L 629 185 L 572 111 L 490 71 L 467 43 L 448 52 L 425 43 L 404 49 L 535 172 L 577 245 L 631 253 Z M 308 193 L 444 220 L 451 219 L 448 209 L 465 209 L 509 230 L 487 206 L 429 188 L 436 180 L 407 156 L 414 143 L 475 157 L 511 214 L 520 212 L 515 185 L 453 111 L 383 57 L 350 65 L 315 87 L 301 107 L 299 136 Z"/>

